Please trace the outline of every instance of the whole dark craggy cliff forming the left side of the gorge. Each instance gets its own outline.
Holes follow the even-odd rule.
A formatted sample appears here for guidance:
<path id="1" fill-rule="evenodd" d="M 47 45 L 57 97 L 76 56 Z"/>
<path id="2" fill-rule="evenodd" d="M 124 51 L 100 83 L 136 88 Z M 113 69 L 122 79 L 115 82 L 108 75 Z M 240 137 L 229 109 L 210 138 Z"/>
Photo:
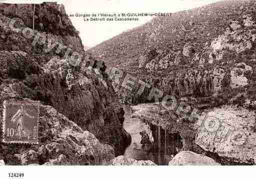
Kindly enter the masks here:
<path id="1" fill-rule="evenodd" d="M 0 12 L 2 18 L 19 17 L 32 28 L 33 5 L 0 3 Z M 34 27 L 46 39 L 53 37 L 84 54 L 63 5 L 36 4 Z M 0 144 L 6 164 L 100 165 L 123 155 L 130 135 L 122 127 L 124 112 L 102 72 L 83 63 L 70 64 L 70 56 L 55 53 L 57 47 L 46 52 L 47 40 L 44 45 L 32 45 L 33 39 L 3 25 L 0 34 L 0 102 L 39 100 L 43 111 L 39 145 Z"/>

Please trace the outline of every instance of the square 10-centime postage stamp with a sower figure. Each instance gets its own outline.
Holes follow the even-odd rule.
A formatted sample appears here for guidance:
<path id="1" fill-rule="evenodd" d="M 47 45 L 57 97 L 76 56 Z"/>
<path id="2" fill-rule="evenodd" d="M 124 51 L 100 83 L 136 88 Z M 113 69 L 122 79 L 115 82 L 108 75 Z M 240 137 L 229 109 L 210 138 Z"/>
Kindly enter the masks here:
<path id="1" fill-rule="evenodd" d="M 39 102 L 3 102 L 4 143 L 38 144 Z"/>

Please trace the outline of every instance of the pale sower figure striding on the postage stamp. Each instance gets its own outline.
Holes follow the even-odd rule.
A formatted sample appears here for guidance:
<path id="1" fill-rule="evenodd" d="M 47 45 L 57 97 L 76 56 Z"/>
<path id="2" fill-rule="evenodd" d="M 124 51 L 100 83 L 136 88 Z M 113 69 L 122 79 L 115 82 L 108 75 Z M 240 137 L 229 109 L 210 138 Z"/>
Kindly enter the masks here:
<path id="1" fill-rule="evenodd" d="M 25 110 L 23 104 L 20 106 L 20 109 L 14 114 L 11 118 L 11 122 L 17 124 L 17 136 L 20 139 L 21 137 L 28 137 L 31 134 L 31 131 L 24 127 L 24 117 L 34 118 L 34 116 L 29 115 Z"/>

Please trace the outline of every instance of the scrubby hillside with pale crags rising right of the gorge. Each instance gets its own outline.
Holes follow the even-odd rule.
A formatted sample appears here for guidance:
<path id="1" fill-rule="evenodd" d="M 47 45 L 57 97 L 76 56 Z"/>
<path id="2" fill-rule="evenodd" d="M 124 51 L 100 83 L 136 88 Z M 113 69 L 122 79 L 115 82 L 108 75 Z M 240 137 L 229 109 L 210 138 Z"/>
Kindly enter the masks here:
<path id="1" fill-rule="evenodd" d="M 255 8 L 255 0 L 229 0 L 156 17 L 88 52 L 101 55 L 108 67 L 123 69 L 164 95 L 230 99 L 237 95 L 236 90 L 242 90 L 251 98 L 256 65 Z M 241 67 L 241 62 L 252 67 L 250 75 L 245 72 L 248 85 L 231 89 L 237 78 L 231 77 L 231 71 L 246 67 Z M 127 94 L 135 104 L 148 102 L 150 90 L 135 97 L 138 84 L 135 86 L 133 92 L 119 86 L 120 98 Z"/>

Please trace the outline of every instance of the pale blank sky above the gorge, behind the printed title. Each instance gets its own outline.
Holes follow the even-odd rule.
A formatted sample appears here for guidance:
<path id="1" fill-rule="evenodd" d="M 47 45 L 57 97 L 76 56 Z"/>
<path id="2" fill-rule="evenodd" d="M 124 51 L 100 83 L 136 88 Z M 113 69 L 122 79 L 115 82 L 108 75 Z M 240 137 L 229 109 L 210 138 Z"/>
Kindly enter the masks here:
<path id="1" fill-rule="evenodd" d="M 0 0 L 5 3 L 41 3 L 57 1 L 65 6 L 67 14 L 176 12 L 219 0 Z M 70 17 L 85 46 L 93 47 L 123 31 L 140 26 L 152 17 L 139 17 L 138 21 L 84 21 Z"/>

